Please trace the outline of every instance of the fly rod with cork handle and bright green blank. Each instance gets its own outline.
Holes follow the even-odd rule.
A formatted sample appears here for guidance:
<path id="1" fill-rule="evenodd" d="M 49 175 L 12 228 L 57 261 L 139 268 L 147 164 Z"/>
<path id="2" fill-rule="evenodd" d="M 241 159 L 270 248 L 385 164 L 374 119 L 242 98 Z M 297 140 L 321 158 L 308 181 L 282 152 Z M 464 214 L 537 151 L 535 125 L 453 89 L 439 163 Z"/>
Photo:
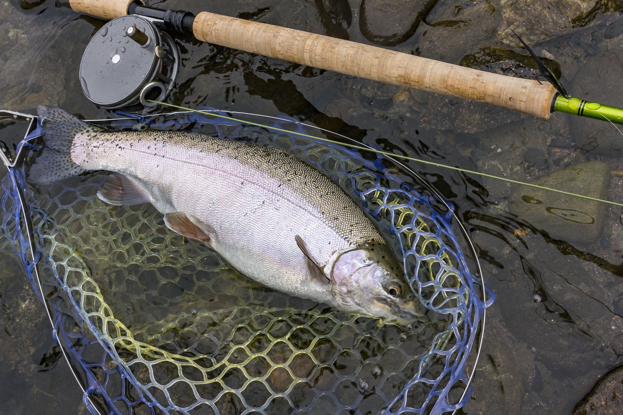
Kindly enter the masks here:
<path id="1" fill-rule="evenodd" d="M 372 45 L 211 12 L 163 10 L 133 0 L 69 0 L 80 13 L 101 19 L 137 15 L 199 41 L 244 50 L 341 74 L 404 85 L 548 120 L 553 112 L 623 124 L 623 109 L 571 98 L 552 83 L 492 74 Z"/>

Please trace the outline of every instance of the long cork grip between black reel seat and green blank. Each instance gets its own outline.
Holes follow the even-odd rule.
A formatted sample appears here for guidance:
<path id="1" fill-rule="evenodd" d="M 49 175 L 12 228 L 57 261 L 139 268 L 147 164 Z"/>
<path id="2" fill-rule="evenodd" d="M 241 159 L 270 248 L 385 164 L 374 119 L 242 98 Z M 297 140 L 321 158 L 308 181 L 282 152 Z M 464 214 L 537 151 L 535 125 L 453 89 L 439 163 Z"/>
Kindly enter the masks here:
<path id="1" fill-rule="evenodd" d="M 197 15 L 194 36 L 254 54 L 486 102 L 548 119 L 556 91 L 549 83 L 492 74 L 334 37 L 210 12 Z"/>

